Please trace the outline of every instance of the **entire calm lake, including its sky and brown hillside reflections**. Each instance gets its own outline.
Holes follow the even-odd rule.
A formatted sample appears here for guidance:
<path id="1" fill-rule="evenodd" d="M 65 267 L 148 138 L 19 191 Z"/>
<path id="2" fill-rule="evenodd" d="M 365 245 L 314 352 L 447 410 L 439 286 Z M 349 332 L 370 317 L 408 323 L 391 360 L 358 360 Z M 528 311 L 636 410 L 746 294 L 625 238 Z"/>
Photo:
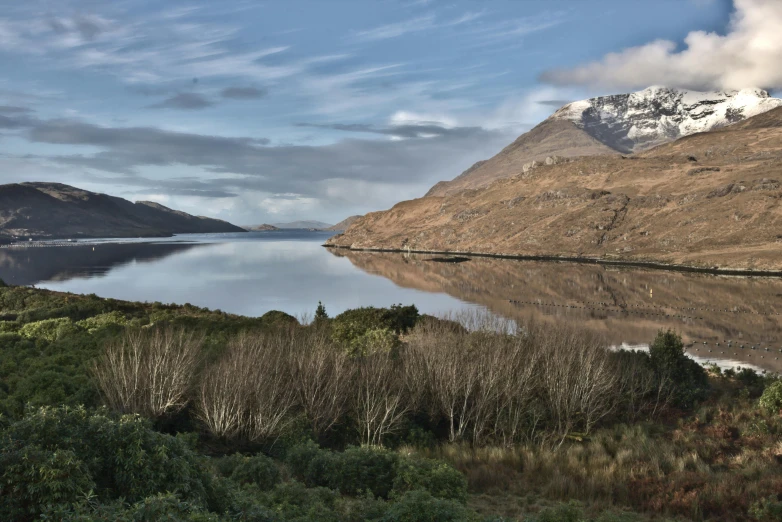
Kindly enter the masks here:
<path id="1" fill-rule="evenodd" d="M 248 316 L 312 316 L 318 301 L 331 315 L 395 303 L 434 315 L 480 309 L 585 328 L 626 347 L 672 328 L 701 362 L 782 371 L 782 278 L 469 256 L 449 262 L 323 248 L 330 235 L 281 230 L 2 248 L 0 278 Z"/>

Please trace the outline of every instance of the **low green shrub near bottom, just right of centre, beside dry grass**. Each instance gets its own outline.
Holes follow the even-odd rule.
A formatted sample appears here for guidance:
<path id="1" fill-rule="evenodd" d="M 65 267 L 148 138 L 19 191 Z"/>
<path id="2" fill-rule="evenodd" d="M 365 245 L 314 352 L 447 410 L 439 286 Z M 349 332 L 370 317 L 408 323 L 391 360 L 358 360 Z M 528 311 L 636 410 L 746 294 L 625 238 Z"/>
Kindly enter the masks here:
<path id="1" fill-rule="evenodd" d="M 395 497 L 420 489 L 436 498 L 467 501 L 467 478 L 450 464 L 408 457 L 399 459 L 395 472 Z"/>

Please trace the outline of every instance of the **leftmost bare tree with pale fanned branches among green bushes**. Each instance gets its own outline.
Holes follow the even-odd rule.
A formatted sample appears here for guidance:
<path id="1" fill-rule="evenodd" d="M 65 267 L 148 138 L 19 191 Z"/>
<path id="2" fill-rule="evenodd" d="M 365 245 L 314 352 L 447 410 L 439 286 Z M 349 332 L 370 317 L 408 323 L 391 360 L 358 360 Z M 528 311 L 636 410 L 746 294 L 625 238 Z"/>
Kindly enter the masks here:
<path id="1" fill-rule="evenodd" d="M 161 417 L 187 404 L 202 343 L 181 329 L 128 330 L 106 345 L 93 375 L 110 407 Z"/>

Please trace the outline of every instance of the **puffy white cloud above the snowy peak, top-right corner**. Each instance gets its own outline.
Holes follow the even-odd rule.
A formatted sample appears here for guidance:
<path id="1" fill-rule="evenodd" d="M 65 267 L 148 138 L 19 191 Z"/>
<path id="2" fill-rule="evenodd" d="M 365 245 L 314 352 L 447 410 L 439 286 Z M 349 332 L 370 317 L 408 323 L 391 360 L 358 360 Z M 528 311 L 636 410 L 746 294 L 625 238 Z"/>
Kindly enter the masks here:
<path id="1" fill-rule="evenodd" d="M 782 88 L 782 2 L 734 0 L 727 33 L 693 31 L 683 48 L 656 40 L 572 69 L 552 69 L 555 85 L 631 89 L 666 85 L 690 89 Z"/>

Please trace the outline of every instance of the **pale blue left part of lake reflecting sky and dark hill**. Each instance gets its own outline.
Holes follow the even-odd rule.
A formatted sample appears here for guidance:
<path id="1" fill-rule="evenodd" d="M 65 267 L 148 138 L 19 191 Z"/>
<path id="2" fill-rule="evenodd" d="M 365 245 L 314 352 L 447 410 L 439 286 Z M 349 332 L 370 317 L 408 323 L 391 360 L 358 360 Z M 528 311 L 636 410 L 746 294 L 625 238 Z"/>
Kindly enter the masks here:
<path id="1" fill-rule="evenodd" d="M 5 249 L 0 250 L 6 256 L 0 277 L 52 290 L 191 303 L 248 316 L 269 310 L 312 315 L 318 301 L 332 315 L 395 303 L 415 304 L 432 314 L 475 307 L 447 294 L 400 288 L 367 274 L 321 247 L 329 235 L 188 235 L 169 242 Z"/>

